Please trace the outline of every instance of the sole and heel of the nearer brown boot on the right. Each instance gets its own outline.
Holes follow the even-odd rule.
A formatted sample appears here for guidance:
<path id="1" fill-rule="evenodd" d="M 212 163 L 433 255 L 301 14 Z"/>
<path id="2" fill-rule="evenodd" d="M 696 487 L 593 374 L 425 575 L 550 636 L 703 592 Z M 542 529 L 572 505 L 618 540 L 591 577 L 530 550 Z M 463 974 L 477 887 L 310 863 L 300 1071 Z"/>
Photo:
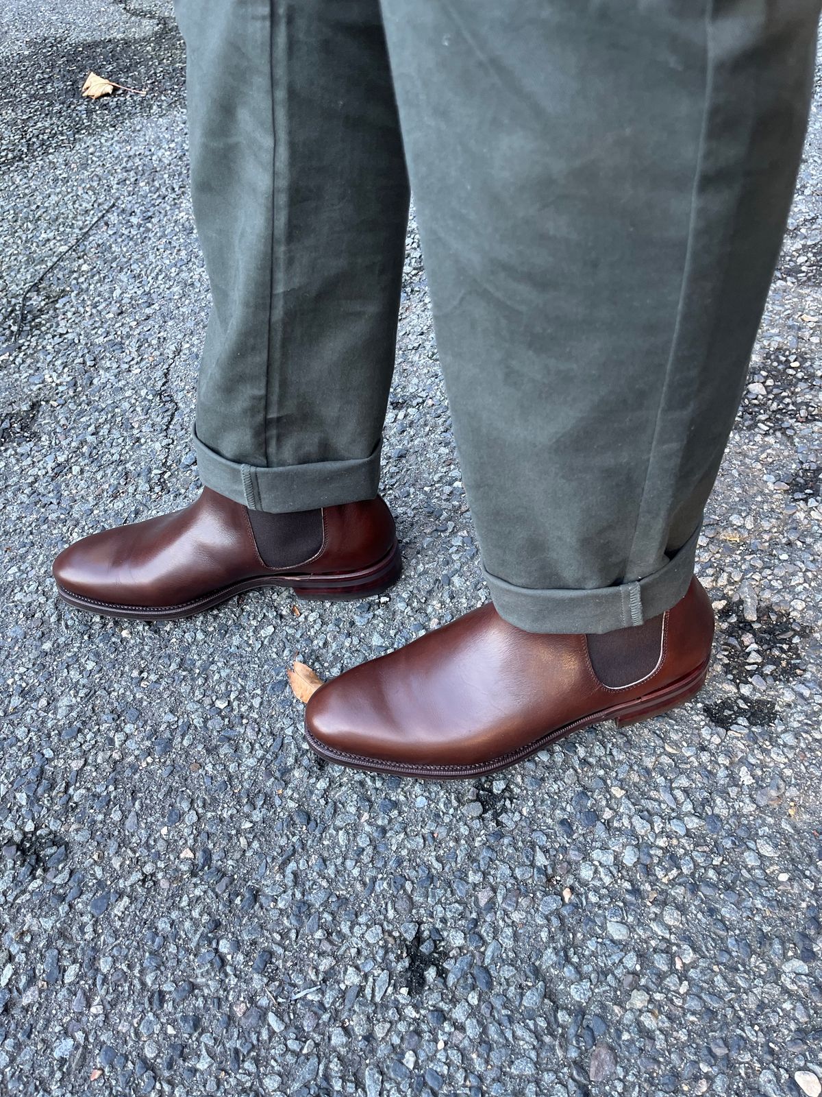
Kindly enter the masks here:
<path id="1" fill-rule="evenodd" d="M 327 746 L 311 734 L 308 726 L 305 727 L 305 735 L 308 745 L 315 754 L 319 755 L 326 761 L 333 761 L 340 766 L 349 766 L 352 769 L 364 769 L 378 773 L 390 773 L 395 777 L 418 777 L 423 780 L 465 780 L 466 778 L 483 777 L 486 773 L 495 773 L 498 770 L 507 769 L 509 766 L 516 765 L 516 762 L 525 761 L 526 758 L 530 758 L 539 750 L 544 750 L 559 739 L 563 739 L 572 732 L 579 732 L 583 727 L 590 727 L 592 724 L 601 724 L 606 720 L 613 720 L 617 727 L 625 727 L 628 724 L 636 724 L 640 720 L 650 720 L 652 716 L 660 716 L 664 712 L 670 712 L 672 709 L 676 709 L 696 697 L 705 685 L 705 677 L 708 674 L 709 665 L 710 657 L 698 669 L 686 675 L 684 678 L 680 678 L 671 686 L 664 687 L 664 689 L 647 693 L 641 698 L 635 698 L 633 701 L 625 702 L 624 704 L 615 704 L 608 709 L 602 709 L 600 712 L 592 713 L 589 716 L 582 716 L 571 724 L 564 724 L 553 732 L 548 732 L 547 735 L 543 735 L 534 743 L 528 743 L 517 750 L 500 755 L 498 758 L 491 758 L 488 761 L 470 765 L 425 766 L 414 762 L 387 761 L 384 758 L 367 758 L 362 755 L 346 754 L 343 750 L 335 750 L 333 747 Z"/>

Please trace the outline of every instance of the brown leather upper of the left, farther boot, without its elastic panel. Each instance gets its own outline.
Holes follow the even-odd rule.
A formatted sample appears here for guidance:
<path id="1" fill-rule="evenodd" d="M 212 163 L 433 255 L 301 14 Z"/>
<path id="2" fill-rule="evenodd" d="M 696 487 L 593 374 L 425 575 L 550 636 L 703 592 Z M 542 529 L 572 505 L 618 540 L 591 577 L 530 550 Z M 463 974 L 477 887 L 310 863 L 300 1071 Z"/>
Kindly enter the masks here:
<path id="1" fill-rule="evenodd" d="M 320 551 L 289 567 L 260 557 L 248 511 L 204 488 L 183 510 L 121 525 L 65 548 L 53 566 L 70 593 L 112 606 L 168 607 L 255 576 L 326 575 L 365 568 L 390 551 L 393 518 L 377 497 L 324 507 Z"/>

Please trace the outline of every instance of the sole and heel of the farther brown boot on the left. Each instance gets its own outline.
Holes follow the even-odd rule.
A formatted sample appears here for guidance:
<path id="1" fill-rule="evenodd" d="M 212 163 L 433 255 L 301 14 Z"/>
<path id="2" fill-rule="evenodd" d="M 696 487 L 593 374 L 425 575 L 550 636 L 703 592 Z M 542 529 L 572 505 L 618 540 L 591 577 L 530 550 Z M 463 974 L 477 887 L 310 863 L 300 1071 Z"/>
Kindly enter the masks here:
<path id="1" fill-rule="evenodd" d="M 258 587 L 290 587 L 298 598 L 305 599 L 358 600 L 381 595 L 392 587 L 401 575 L 402 556 L 400 546 L 395 541 L 383 559 L 359 572 L 339 572 L 329 575 L 258 575 L 179 606 L 117 606 L 112 602 L 99 602 L 93 598 L 75 595 L 59 584 L 57 591 L 65 602 L 85 613 L 132 618 L 138 621 L 174 621 L 178 618 L 194 617 L 195 613 L 202 613 Z"/>

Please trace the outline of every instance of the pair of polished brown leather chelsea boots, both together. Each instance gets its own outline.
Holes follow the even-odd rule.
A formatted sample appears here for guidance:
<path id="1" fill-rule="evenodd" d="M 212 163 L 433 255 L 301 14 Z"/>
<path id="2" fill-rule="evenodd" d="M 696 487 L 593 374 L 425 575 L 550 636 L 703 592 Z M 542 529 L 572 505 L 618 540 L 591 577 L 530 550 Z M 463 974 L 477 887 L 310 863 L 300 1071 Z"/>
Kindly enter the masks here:
<path id="1" fill-rule="evenodd" d="M 184 510 L 85 538 L 54 564 L 69 604 L 146 620 L 189 617 L 262 586 L 361 599 L 400 572 L 379 497 L 270 514 L 208 488 Z M 323 758 L 361 769 L 490 773 L 579 728 L 687 701 L 705 681 L 712 636 L 696 579 L 659 618 L 603 635 L 524 632 L 489 603 L 320 687 L 306 738 Z"/>

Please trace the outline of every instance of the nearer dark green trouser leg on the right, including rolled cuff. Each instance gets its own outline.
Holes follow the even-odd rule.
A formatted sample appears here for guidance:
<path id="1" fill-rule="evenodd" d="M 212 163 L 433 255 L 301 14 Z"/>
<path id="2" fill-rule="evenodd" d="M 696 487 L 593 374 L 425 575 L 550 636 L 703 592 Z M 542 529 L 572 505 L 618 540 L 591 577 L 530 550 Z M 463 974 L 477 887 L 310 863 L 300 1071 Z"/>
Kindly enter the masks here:
<path id="1" fill-rule="evenodd" d="M 494 603 L 686 591 L 795 185 L 818 0 L 383 0 Z"/>

